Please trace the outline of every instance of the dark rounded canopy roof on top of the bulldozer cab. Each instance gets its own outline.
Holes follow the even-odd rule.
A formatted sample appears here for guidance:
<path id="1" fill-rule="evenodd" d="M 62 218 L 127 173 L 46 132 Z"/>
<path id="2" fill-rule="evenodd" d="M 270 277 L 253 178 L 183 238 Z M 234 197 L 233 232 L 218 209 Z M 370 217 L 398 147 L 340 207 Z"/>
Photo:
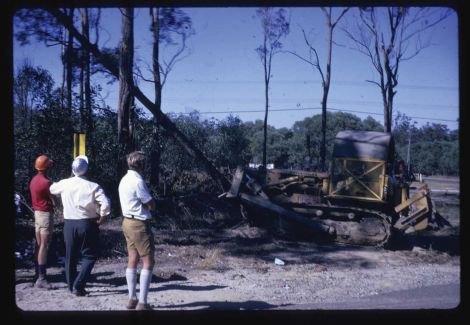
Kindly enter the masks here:
<path id="1" fill-rule="evenodd" d="M 390 133 L 340 131 L 334 142 L 333 158 L 368 158 L 390 161 L 394 143 Z"/>

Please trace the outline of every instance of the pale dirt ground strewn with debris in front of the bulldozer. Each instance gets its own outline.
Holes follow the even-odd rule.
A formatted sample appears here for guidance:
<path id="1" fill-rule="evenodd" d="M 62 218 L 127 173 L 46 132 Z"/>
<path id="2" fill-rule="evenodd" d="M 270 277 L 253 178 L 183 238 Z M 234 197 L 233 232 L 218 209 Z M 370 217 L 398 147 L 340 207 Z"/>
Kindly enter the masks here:
<path id="1" fill-rule="evenodd" d="M 342 302 L 363 297 L 460 284 L 459 198 L 442 195 L 434 201 L 451 226 L 408 234 L 393 250 L 288 240 L 242 220 L 225 228 L 155 228 L 156 266 L 148 302 L 155 310 L 165 311 L 341 309 Z M 33 268 L 20 263 L 17 307 L 22 311 L 125 310 L 127 260 L 120 224 L 121 219 L 115 218 L 101 228 L 103 253 L 86 288 L 89 296 L 68 292 L 60 259 L 48 269 L 53 290 L 34 288 Z M 453 307 L 457 307 L 460 297 L 454 298 Z M 327 307 L 333 302 L 335 307 Z"/>

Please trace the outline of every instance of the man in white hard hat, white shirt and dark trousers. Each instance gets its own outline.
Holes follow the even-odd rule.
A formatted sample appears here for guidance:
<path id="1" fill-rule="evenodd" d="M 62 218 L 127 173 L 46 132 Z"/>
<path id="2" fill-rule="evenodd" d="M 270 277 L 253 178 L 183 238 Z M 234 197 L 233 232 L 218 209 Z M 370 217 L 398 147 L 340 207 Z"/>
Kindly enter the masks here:
<path id="1" fill-rule="evenodd" d="M 88 158 L 78 156 L 72 163 L 75 176 L 53 183 L 51 194 L 60 195 L 64 208 L 65 276 L 69 290 L 86 296 L 87 280 L 96 262 L 99 228 L 110 213 L 103 189 L 85 178 Z M 81 269 L 77 264 L 81 257 Z"/>

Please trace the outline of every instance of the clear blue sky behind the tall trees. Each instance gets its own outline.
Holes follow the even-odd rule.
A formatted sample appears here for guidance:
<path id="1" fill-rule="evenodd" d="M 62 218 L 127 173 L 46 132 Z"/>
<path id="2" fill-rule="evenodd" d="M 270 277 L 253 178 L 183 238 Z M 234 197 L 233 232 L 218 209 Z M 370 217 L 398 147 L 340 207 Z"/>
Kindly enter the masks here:
<path id="1" fill-rule="evenodd" d="M 325 67 L 326 24 L 319 8 L 287 8 L 291 18 L 289 35 L 282 39 L 286 50 L 307 54 L 301 28 L 309 35 L 312 45 Z M 261 44 L 260 21 L 256 8 L 183 8 L 191 17 L 196 34 L 188 40 L 191 54 L 178 62 L 163 89 L 162 110 L 165 113 L 203 112 L 206 118 L 223 119 L 236 112 L 243 121 L 264 118 L 264 74 L 255 49 Z M 334 17 L 339 8 L 334 9 Z M 346 20 L 347 19 L 347 20 Z M 344 23 L 351 23 L 348 16 Z M 104 9 L 100 46 L 117 46 L 120 34 L 120 12 Z M 135 11 L 136 59 L 151 60 L 151 33 L 148 10 Z M 378 80 L 369 58 L 353 50 L 354 45 L 338 28 L 333 48 L 332 82 L 328 107 L 333 110 L 351 110 L 361 118 L 368 115 L 383 123 L 383 106 L 377 86 L 366 79 Z M 446 124 L 458 128 L 459 117 L 459 61 L 457 15 L 453 13 L 444 22 L 423 35 L 432 46 L 417 57 L 404 61 L 399 70 L 399 85 L 394 112 L 413 117 L 418 125 Z M 26 47 L 14 44 L 14 64 L 25 58 L 34 65 L 48 69 L 60 84 L 60 48 L 46 48 L 33 42 Z M 34 55 L 33 55 L 34 53 Z M 142 69 L 143 65 L 142 65 Z M 292 54 L 279 53 L 273 59 L 270 84 L 268 123 L 275 127 L 291 127 L 295 121 L 319 114 L 322 96 L 321 78 L 316 70 Z M 103 78 L 93 77 L 92 83 L 103 86 L 106 104 L 116 108 L 118 83 L 108 86 Z M 151 84 L 141 81 L 139 87 L 154 99 Z M 142 106 L 142 105 L 140 105 Z M 276 111 L 280 110 L 280 111 Z M 282 110 L 282 111 L 281 111 Z M 258 111 L 240 113 L 239 111 Z"/>

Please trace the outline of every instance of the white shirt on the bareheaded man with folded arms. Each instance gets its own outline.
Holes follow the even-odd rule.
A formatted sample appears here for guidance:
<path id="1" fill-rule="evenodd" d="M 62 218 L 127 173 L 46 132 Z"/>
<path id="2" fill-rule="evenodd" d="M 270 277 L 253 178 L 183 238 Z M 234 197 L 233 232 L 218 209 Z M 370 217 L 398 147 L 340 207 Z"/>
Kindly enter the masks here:
<path id="1" fill-rule="evenodd" d="M 134 170 L 128 170 L 119 183 L 119 200 L 121 202 L 122 215 L 134 216 L 138 220 L 152 219 L 152 214 L 144 206 L 152 200 L 152 195 L 142 179 L 142 176 Z"/>

